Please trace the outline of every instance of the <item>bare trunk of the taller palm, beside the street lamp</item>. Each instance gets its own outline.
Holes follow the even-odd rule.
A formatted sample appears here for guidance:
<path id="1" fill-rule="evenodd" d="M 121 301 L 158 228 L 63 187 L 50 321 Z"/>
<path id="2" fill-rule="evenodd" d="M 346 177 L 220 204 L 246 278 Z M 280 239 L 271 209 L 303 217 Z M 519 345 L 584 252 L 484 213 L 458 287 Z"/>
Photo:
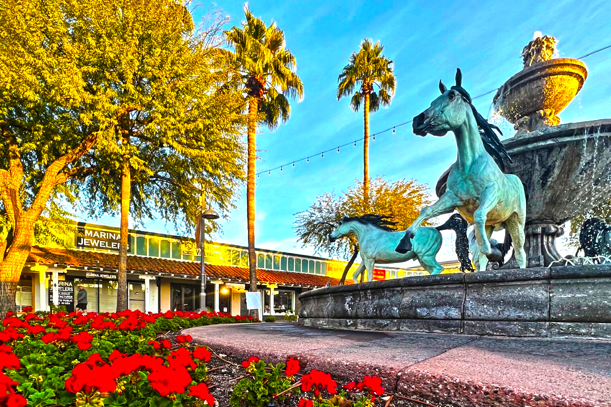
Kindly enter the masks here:
<path id="1" fill-rule="evenodd" d="M 248 224 L 249 291 L 257 291 L 257 255 L 255 254 L 255 160 L 257 159 L 257 107 L 256 98 L 248 101 L 248 170 L 246 181 L 246 218 Z M 251 317 L 258 319 L 258 309 L 251 309 Z"/>

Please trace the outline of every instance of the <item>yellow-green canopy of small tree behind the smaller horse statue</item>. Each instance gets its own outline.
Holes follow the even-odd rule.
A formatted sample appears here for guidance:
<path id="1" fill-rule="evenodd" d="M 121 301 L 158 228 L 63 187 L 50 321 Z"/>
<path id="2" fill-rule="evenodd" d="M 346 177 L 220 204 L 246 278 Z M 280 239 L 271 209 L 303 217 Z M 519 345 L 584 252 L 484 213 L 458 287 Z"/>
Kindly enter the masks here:
<path id="1" fill-rule="evenodd" d="M 362 190 L 363 183 L 357 180 L 341 195 L 323 193 L 307 211 L 295 214 L 295 232 L 302 247 L 309 246 L 315 253 L 348 259 L 356 247 L 356 236 L 329 242 L 329 234 L 344 216 L 386 215 L 397 222 L 397 230 L 404 230 L 418 217 L 420 209 L 431 204 L 426 185 L 414 179 L 396 182 L 381 176 L 372 179 L 368 203 L 365 203 Z"/>

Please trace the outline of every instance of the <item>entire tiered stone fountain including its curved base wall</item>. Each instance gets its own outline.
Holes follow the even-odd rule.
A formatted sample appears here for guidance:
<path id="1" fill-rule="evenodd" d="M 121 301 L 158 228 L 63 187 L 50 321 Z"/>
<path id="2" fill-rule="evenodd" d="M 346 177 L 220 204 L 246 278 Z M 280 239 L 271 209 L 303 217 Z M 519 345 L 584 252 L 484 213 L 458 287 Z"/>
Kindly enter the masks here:
<path id="1" fill-rule="evenodd" d="M 549 267 L 562 258 L 562 225 L 611 195 L 611 119 L 560 124 L 587 70 L 554 58 L 554 47 L 553 37 L 531 41 L 524 69 L 494 97 L 516 129 L 503 144 L 513 159 L 507 170 L 527 190 L 528 267 L 315 289 L 299 295 L 300 325 L 611 339 L 611 265 Z"/>

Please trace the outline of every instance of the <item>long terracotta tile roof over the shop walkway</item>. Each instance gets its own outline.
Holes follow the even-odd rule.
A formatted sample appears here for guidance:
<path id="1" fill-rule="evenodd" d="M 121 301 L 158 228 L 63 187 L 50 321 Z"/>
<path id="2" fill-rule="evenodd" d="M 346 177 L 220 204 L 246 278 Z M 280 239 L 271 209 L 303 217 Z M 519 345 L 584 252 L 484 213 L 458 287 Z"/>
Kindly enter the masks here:
<path id="1" fill-rule="evenodd" d="M 101 251 L 72 250 L 65 248 L 32 247 L 27 258 L 29 262 L 39 264 L 62 264 L 73 267 L 101 267 L 116 270 L 119 267 L 119 254 Z M 147 273 L 173 273 L 177 275 L 200 275 L 200 264 L 195 261 L 177 261 L 144 256 L 127 256 L 127 270 Z M 245 267 L 230 265 L 206 264 L 206 275 L 209 278 L 232 279 L 249 282 L 249 270 Z M 339 279 L 323 275 L 265 270 L 257 268 L 259 283 L 296 284 L 299 286 L 324 286 L 331 281 L 337 286 Z M 351 284 L 352 280 L 346 280 Z"/>

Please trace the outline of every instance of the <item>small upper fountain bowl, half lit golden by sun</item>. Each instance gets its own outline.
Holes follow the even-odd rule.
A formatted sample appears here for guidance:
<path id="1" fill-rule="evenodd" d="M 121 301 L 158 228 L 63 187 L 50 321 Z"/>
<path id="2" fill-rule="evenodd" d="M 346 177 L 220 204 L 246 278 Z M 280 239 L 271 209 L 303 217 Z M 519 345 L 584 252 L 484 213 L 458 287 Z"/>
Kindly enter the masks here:
<path id="1" fill-rule="evenodd" d="M 587 77 L 585 64 L 577 59 L 538 62 L 510 77 L 494 96 L 494 105 L 518 131 L 554 126 Z"/>

